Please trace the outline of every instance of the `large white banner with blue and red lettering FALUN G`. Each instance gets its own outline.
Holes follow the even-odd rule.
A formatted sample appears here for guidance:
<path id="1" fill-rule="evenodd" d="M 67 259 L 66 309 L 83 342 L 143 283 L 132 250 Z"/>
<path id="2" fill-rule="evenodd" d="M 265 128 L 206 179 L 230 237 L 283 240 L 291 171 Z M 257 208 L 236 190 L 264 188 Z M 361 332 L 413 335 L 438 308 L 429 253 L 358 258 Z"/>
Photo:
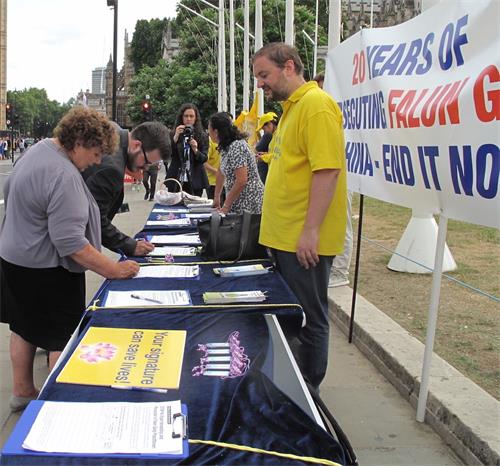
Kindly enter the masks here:
<path id="1" fill-rule="evenodd" d="M 498 0 L 443 1 L 328 53 L 349 189 L 500 227 Z"/>

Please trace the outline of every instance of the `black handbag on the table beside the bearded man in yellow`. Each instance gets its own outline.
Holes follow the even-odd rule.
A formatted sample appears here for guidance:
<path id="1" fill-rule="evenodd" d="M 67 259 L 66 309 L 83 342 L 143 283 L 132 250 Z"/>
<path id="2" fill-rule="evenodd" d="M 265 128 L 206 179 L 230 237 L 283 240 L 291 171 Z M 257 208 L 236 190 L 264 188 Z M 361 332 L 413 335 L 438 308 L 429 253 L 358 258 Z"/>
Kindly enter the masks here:
<path id="1" fill-rule="evenodd" d="M 205 260 L 234 261 L 265 259 L 265 246 L 259 244 L 260 214 L 212 213 L 209 220 L 198 222 L 202 244 L 201 257 Z"/>

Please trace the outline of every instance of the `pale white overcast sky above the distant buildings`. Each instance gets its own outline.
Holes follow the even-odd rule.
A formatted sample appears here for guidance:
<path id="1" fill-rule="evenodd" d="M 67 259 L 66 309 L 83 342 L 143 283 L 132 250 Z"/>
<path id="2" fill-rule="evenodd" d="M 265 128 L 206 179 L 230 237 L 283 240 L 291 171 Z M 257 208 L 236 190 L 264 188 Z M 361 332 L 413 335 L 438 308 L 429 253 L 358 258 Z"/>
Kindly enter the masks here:
<path id="1" fill-rule="evenodd" d="M 125 29 L 139 19 L 174 17 L 177 0 L 118 1 L 118 69 Z M 92 70 L 113 52 L 106 0 L 7 0 L 7 89 L 46 89 L 60 103 L 91 89 Z"/>

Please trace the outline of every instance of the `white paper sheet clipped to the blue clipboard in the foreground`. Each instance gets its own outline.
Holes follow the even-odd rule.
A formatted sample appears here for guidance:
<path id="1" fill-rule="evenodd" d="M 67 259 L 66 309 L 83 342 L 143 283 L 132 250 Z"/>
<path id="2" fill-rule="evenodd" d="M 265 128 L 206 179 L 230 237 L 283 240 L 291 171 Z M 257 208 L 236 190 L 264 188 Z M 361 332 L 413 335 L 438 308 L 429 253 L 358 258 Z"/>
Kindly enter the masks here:
<path id="1" fill-rule="evenodd" d="M 24 440 L 23 447 L 60 453 L 180 454 L 182 436 L 172 438 L 172 432 L 182 431 L 180 417 L 173 424 L 173 414 L 180 412 L 180 401 L 46 401 Z"/>

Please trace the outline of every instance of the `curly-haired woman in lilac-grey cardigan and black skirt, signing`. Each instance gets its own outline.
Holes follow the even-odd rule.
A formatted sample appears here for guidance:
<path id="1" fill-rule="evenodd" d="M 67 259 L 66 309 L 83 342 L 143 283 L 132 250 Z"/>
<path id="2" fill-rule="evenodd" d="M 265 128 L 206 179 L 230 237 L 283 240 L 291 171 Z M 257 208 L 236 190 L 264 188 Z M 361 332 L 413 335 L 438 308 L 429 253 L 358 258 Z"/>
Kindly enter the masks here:
<path id="1" fill-rule="evenodd" d="M 100 252 L 99 208 L 81 171 L 101 162 L 118 144 L 104 116 L 75 107 L 52 139 L 31 147 L 4 187 L 0 230 L 1 321 L 11 330 L 11 411 L 36 398 L 36 348 L 49 351 L 52 368 L 85 309 L 85 270 L 131 278 L 133 261 L 114 262 Z"/>

